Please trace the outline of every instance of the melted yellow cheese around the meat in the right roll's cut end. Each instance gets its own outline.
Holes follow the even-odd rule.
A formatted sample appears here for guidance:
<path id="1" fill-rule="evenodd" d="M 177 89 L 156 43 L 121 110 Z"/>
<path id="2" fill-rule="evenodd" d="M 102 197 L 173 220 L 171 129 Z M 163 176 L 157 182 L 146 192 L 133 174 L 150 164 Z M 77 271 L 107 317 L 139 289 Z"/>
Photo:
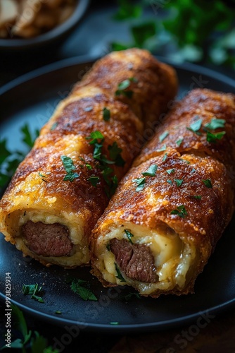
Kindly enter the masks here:
<path id="1" fill-rule="evenodd" d="M 159 277 L 157 283 L 132 280 L 125 273 L 122 273 L 122 276 L 127 283 L 121 282 L 116 277 L 115 256 L 111 251 L 108 251 L 107 245 L 113 238 L 127 239 L 124 229 L 128 229 L 134 235 L 132 237 L 133 244 L 144 244 L 150 247 Z M 163 230 L 158 232 L 128 223 L 121 227 L 113 227 L 105 236 L 102 234 L 97 239 L 96 249 L 96 255 L 99 258 L 96 265 L 103 274 L 104 280 L 118 285 L 133 285 L 140 294 L 151 294 L 156 289 L 171 290 L 176 286 L 183 288 L 186 283 L 186 274 L 196 257 L 196 250 L 193 246 L 184 244 L 178 234 L 168 235 L 164 234 Z"/>

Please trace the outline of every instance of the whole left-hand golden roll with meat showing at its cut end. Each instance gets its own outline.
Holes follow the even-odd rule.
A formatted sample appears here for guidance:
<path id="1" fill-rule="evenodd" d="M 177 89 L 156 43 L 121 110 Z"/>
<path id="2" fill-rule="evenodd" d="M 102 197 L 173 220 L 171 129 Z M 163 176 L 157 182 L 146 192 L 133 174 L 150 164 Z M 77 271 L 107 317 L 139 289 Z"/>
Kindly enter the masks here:
<path id="1" fill-rule="evenodd" d="M 133 63 L 135 69 L 131 70 L 135 55 L 130 53 L 132 50 L 123 52 L 124 64 L 120 66 L 118 61 L 118 65 L 122 78 L 132 83 L 132 97 L 128 98 L 132 101 L 139 86 L 143 97 L 148 96 L 146 78 L 139 74 L 146 57 L 153 77 L 158 77 L 162 64 L 151 54 L 137 51 L 138 63 Z M 108 55 L 110 64 L 115 65 L 116 60 L 116 54 Z M 176 88 L 174 70 L 163 67 L 169 71 L 164 85 Z M 132 107 L 117 99 L 114 90 L 121 90 L 118 80 L 112 79 L 112 90 L 104 89 L 98 79 L 87 84 L 94 71 L 96 66 L 84 84 L 82 81 L 58 104 L 1 199 L 0 230 L 6 241 L 44 265 L 70 268 L 89 263 L 91 230 L 139 151 L 136 136 L 143 133 L 148 119 L 146 114 L 136 116 Z M 103 74 L 102 84 L 107 82 L 110 87 L 109 80 L 108 74 Z M 122 87 L 120 96 L 125 89 Z M 158 90 L 156 87 L 157 100 Z M 161 109 L 165 111 L 165 104 Z"/>

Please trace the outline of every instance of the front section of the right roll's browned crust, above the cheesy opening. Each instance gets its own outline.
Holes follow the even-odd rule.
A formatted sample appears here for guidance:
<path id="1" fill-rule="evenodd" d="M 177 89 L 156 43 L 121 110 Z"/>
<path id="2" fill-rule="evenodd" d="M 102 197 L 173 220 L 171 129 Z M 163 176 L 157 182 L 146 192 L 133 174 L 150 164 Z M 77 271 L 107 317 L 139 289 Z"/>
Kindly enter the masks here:
<path id="1" fill-rule="evenodd" d="M 142 173 L 153 164 L 158 166 L 155 177 L 146 177 L 143 191 L 136 191 L 133 180 L 142 178 Z M 183 180 L 181 186 L 177 186 L 175 179 Z M 206 179 L 210 179 L 212 188 L 205 186 L 203 180 Z M 211 251 L 231 219 L 232 189 L 226 168 L 212 157 L 168 151 L 165 161 L 157 156 L 129 170 L 99 219 L 94 234 L 105 232 L 109 220 L 130 221 L 149 229 L 165 222 L 180 237 L 190 237 L 197 247 L 207 246 Z M 201 200 L 195 196 L 201 196 Z M 171 211 L 182 204 L 188 215 L 184 218 L 172 215 Z"/>

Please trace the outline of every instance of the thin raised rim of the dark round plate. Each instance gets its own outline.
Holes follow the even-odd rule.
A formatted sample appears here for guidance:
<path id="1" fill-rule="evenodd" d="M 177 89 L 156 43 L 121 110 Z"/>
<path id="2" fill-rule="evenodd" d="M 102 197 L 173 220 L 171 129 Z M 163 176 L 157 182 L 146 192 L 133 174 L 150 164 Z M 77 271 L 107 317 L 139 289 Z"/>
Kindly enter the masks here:
<path id="1" fill-rule="evenodd" d="M 99 56 L 100 57 L 100 56 Z M 35 78 L 38 78 L 39 76 L 46 75 L 48 73 L 52 73 L 53 71 L 58 71 L 61 69 L 64 69 L 66 67 L 71 67 L 71 66 L 76 66 L 80 64 L 92 64 L 94 61 L 99 59 L 97 56 L 91 56 L 91 55 L 83 55 L 83 56 L 74 56 L 72 58 L 68 59 L 63 59 L 61 61 L 56 61 L 53 62 L 49 65 L 42 66 L 40 68 L 35 69 L 34 71 L 30 71 L 28 73 L 25 73 L 22 76 L 19 76 L 18 78 L 15 78 L 14 80 L 11 80 L 9 83 L 6 83 L 4 86 L 0 88 L 0 99 L 1 96 L 8 93 L 12 89 L 16 88 L 18 85 L 22 85 L 23 83 L 27 83 L 30 80 L 34 80 Z M 235 80 L 232 78 L 229 78 L 228 76 L 224 75 L 223 73 L 218 73 L 217 71 L 213 71 L 210 68 L 205 68 L 203 66 L 198 66 L 196 64 L 191 64 L 191 63 L 184 63 L 184 64 L 179 64 L 175 63 L 171 59 L 165 58 L 163 56 L 155 56 L 158 60 L 163 61 L 167 64 L 172 65 L 176 69 L 184 70 L 184 71 L 191 71 L 193 73 L 198 73 L 201 75 L 205 75 L 208 77 L 211 77 L 215 80 L 222 81 L 224 84 L 231 86 L 235 90 Z M 5 301 L 6 296 L 0 292 L 0 300 Z M 234 299 L 230 299 L 228 301 L 224 301 L 222 304 L 218 304 L 216 306 L 212 306 L 208 309 L 202 310 L 202 311 L 197 311 L 196 313 L 192 313 L 190 315 L 184 315 L 181 317 L 173 318 L 173 319 L 167 319 L 165 321 L 158 321 L 154 323 L 142 323 L 142 324 L 120 324 L 120 325 L 110 325 L 110 324 L 104 324 L 104 323 L 85 323 L 85 322 L 80 322 L 80 321 L 75 321 L 75 320 L 70 320 L 68 318 L 62 318 L 62 317 L 56 317 L 48 313 L 43 313 L 40 311 L 37 311 L 35 309 L 32 309 L 28 306 L 25 306 L 24 304 L 21 304 L 18 301 L 15 301 L 14 299 L 11 299 L 11 302 L 15 305 L 17 305 L 20 309 L 25 311 L 31 316 L 34 316 L 35 318 L 41 320 L 41 321 L 46 321 L 49 323 L 53 323 L 56 325 L 66 325 L 66 324 L 73 324 L 73 325 L 78 325 L 81 327 L 84 327 L 84 330 L 100 330 L 106 331 L 106 332 L 115 332 L 115 333 L 120 333 L 125 330 L 125 332 L 138 332 L 140 330 L 165 330 L 166 328 L 173 328 L 177 324 L 178 325 L 185 325 L 186 323 L 191 323 L 193 319 L 196 319 L 198 316 L 201 314 L 205 313 L 221 313 L 224 311 L 228 311 L 231 308 L 235 307 L 235 297 Z"/>

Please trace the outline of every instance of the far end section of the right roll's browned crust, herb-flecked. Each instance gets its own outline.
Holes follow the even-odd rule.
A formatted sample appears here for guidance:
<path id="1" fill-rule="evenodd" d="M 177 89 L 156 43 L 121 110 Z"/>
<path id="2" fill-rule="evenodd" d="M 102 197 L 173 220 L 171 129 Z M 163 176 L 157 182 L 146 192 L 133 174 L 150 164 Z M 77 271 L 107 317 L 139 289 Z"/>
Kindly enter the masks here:
<path id="1" fill-rule="evenodd" d="M 207 141 L 204 130 L 212 118 L 224 119 L 224 128 L 217 128 L 216 133 L 225 131 L 225 135 L 216 143 Z M 202 119 L 202 125 L 198 133 L 193 133 L 188 128 L 198 119 Z M 160 136 L 168 132 L 168 136 L 160 142 Z M 139 157 L 134 161 L 138 165 L 144 160 L 159 152 L 163 145 L 174 148 L 180 153 L 205 153 L 220 160 L 225 165 L 234 164 L 235 160 L 235 96 L 212 90 L 196 89 L 189 92 L 181 102 L 178 102 L 170 114 L 163 119 L 161 126 L 154 138 L 141 151 Z M 177 141 L 182 140 L 180 145 Z M 179 143 L 179 142 L 178 142 Z"/>

